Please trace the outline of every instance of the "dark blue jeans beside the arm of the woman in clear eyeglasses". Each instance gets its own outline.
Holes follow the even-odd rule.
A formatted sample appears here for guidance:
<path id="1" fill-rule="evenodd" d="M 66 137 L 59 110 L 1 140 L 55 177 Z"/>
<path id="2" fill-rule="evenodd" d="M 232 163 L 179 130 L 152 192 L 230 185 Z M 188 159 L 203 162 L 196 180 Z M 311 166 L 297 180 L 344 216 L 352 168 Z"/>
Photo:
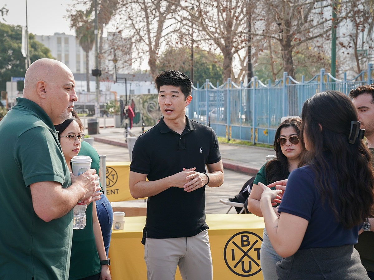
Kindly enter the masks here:
<path id="1" fill-rule="evenodd" d="M 101 195 L 101 199 L 96 201 L 96 212 L 101 227 L 102 239 L 104 240 L 105 252 L 108 257 L 112 234 L 113 209 L 105 195 Z"/>

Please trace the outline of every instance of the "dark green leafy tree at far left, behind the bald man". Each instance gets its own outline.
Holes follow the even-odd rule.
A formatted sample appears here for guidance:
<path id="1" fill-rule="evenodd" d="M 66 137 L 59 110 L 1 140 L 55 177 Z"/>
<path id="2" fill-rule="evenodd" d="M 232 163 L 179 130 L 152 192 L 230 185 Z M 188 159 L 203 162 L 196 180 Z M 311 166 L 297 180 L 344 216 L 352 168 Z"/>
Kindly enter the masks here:
<path id="1" fill-rule="evenodd" d="M 21 53 L 21 25 L 0 23 L 0 90 L 6 90 L 6 82 L 11 77 L 24 77 L 25 57 Z M 33 63 L 40 58 L 53 58 L 50 50 L 35 40 L 34 34 L 29 34 L 30 60 Z M 22 91 L 23 82 L 18 82 L 18 90 Z"/>

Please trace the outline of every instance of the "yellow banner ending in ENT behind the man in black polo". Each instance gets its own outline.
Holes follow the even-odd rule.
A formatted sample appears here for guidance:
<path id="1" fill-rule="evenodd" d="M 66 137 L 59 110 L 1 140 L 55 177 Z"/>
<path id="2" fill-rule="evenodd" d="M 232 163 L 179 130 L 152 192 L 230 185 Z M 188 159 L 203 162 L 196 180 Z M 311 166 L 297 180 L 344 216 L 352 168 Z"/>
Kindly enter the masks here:
<path id="1" fill-rule="evenodd" d="M 110 202 L 134 200 L 129 189 L 131 161 L 106 162 L 107 197 Z"/>

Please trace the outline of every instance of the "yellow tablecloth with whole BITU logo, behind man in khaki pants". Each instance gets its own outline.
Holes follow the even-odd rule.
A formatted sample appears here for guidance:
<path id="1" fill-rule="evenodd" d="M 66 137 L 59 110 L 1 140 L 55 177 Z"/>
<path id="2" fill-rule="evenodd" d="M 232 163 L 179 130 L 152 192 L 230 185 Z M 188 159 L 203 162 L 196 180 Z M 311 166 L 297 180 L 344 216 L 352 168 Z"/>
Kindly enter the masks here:
<path id="1" fill-rule="evenodd" d="M 254 214 L 206 215 L 214 280 L 263 279 L 260 247 L 264 221 Z M 147 279 L 144 246 L 145 217 L 125 217 L 125 229 L 113 230 L 109 257 L 112 279 Z M 181 279 L 179 270 L 175 279 Z"/>

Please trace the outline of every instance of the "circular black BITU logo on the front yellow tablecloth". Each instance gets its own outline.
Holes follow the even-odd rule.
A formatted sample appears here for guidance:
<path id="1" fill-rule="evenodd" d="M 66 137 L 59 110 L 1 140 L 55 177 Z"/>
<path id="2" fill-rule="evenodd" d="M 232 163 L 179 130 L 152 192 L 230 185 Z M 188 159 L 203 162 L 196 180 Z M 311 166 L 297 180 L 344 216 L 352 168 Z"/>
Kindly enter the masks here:
<path id="1" fill-rule="evenodd" d="M 260 248 L 262 238 L 250 231 L 234 234 L 223 251 L 227 267 L 236 275 L 253 276 L 261 271 Z"/>

